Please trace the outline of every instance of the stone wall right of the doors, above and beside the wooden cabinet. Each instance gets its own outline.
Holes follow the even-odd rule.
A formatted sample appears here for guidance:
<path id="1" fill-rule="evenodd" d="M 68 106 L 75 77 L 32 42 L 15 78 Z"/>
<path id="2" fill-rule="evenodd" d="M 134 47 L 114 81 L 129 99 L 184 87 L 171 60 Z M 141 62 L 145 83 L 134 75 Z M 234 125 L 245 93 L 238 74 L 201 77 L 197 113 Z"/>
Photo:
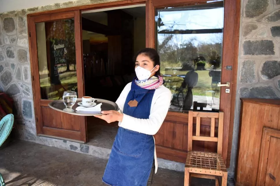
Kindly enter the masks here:
<path id="1" fill-rule="evenodd" d="M 280 98 L 280 0 L 243 0 L 231 172 L 236 162 L 240 97 Z"/>

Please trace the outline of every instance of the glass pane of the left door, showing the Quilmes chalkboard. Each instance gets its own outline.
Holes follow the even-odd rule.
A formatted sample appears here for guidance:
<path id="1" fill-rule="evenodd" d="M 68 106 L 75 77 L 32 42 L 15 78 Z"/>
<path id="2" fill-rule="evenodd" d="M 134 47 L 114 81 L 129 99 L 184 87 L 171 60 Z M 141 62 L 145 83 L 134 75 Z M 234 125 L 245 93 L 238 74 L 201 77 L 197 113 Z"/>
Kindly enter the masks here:
<path id="1" fill-rule="evenodd" d="M 36 23 L 41 99 L 78 94 L 74 18 Z"/>

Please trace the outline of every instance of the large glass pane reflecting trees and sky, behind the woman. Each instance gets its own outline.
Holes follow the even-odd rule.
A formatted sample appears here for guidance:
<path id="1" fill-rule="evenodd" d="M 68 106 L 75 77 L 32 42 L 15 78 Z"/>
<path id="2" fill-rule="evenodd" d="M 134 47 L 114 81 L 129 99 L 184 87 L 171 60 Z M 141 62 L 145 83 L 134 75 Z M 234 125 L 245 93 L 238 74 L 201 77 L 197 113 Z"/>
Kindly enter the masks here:
<path id="1" fill-rule="evenodd" d="M 223 2 L 156 9 L 156 48 L 169 110 L 218 111 L 223 48 Z"/>

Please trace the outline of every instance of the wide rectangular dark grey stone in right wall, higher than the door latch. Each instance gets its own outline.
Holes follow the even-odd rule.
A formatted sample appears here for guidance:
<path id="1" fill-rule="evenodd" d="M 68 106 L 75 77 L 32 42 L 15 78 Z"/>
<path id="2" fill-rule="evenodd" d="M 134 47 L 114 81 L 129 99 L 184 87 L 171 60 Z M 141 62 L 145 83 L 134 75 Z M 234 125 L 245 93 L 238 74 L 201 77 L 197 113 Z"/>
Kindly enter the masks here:
<path id="1" fill-rule="evenodd" d="M 275 55 L 274 43 L 271 40 L 244 41 L 244 55 Z"/>

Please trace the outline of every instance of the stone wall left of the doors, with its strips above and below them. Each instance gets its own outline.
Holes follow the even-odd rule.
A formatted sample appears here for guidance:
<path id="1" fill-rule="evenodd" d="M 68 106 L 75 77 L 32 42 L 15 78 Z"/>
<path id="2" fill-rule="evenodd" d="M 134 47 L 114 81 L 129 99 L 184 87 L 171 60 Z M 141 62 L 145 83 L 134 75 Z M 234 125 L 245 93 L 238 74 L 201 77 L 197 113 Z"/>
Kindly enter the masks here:
<path id="1" fill-rule="evenodd" d="M 36 135 L 32 95 L 27 14 L 108 0 L 77 0 L 0 14 L 0 91 L 14 99 L 16 136 L 42 145 L 109 158 L 110 149 Z"/>

